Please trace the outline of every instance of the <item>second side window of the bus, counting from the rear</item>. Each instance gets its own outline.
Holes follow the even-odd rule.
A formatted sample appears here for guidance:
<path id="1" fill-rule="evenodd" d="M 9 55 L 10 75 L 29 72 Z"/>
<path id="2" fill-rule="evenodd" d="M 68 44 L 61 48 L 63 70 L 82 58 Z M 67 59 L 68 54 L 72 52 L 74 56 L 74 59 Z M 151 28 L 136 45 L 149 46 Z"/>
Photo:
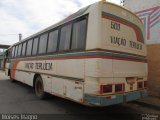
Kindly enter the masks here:
<path id="1" fill-rule="evenodd" d="M 72 24 L 61 28 L 59 51 L 67 51 L 70 49 Z"/>

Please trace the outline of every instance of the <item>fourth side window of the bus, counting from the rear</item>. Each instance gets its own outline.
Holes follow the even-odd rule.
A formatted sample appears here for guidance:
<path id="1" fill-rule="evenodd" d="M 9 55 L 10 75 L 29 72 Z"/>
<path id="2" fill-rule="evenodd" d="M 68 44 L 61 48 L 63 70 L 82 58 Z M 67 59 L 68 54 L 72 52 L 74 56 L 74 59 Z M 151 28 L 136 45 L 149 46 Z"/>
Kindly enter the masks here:
<path id="1" fill-rule="evenodd" d="M 46 48 L 47 48 L 47 38 L 48 38 L 48 33 L 43 34 L 40 36 L 39 39 L 39 49 L 38 49 L 38 53 L 39 54 L 44 54 L 46 53 Z"/>

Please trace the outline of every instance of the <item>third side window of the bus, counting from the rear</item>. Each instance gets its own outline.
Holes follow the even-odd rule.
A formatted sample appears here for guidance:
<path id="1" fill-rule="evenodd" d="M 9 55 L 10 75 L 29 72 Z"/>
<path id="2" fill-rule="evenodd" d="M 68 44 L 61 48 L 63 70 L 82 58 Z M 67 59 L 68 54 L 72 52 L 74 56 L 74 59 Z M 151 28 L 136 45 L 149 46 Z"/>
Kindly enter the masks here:
<path id="1" fill-rule="evenodd" d="M 49 33 L 47 53 L 56 52 L 58 42 L 58 30 Z"/>

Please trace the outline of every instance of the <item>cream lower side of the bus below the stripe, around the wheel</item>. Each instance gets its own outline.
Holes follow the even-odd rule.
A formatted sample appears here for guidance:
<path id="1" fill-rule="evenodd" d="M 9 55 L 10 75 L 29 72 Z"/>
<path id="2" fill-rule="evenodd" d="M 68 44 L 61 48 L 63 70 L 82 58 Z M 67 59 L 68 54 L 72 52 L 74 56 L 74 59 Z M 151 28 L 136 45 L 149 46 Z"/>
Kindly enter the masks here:
<path id="1" fill-rule="evenodd" d="M 35 74 L 40 74 L 44 91 L 83 102 L 84 59 L 19 60 L 14 67 L 16 70 L 12 78 L 15 80 L 33 86 Z"/>

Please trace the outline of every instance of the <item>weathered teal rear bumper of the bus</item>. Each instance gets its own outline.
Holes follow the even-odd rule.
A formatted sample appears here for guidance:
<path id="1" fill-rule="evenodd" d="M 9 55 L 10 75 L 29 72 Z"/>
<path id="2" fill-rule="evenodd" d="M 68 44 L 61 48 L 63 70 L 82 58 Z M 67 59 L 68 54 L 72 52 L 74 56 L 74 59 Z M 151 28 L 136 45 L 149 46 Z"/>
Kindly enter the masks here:
<path id="1" fill-rule="evenodd" d="M 147 90 L 133 91 L 129 93 L 115 94 L 110 96 L 93 96 L 85 94 L 85 103 L 93 106 L 109 106 L 141 99 L 146 97 L 147 95 Z"/>

